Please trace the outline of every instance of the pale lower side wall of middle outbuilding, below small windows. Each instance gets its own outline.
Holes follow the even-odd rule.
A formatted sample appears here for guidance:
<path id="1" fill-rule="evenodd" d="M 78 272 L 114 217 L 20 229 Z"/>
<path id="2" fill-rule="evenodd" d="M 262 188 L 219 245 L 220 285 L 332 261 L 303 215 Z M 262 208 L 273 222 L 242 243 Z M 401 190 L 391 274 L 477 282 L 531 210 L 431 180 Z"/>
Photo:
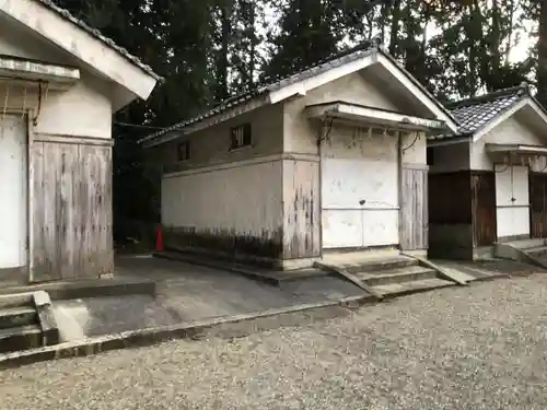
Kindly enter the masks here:
<path id="1" fill-rule="evenodd" d="M 162 224 L 271 237 L 282 227 L 282 161 L 165 175 Z"/>

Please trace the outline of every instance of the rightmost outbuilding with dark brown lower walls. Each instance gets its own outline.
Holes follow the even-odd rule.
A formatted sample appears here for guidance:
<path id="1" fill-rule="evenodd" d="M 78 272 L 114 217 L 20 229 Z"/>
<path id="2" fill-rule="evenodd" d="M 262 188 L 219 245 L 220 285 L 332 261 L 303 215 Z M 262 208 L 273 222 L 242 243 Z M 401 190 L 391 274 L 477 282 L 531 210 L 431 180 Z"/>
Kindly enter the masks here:
<path id="1" fill-rule="evenodd" d="M 458 131 L 428 141 L 430 254 L 472 259 L 546 238 L 547 114 L 528 87 L 447 108 Z"/>

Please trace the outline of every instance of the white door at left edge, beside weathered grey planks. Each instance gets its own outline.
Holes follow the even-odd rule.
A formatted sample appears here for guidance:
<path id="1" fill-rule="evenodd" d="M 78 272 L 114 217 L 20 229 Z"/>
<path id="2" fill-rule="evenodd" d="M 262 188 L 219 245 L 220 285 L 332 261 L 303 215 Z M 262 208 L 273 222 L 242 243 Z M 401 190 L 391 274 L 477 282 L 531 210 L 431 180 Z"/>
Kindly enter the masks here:
<path id="1" fill-rule="evenodd" d="M 25 118 L 0 116 L 0 269 L 27 263 L 26 148 Z"/>

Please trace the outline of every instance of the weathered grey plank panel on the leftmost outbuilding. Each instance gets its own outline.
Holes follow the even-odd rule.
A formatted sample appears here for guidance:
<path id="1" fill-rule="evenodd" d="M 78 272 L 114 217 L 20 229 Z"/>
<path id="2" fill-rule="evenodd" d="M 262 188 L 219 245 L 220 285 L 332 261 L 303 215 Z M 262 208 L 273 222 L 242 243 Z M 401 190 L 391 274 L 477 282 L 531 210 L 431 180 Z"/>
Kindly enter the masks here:
<path id="1" fill-rule="evenodd" d="M 112 148 L 69 142 L 31 145 L 33 282 L 114 269 Z"/>

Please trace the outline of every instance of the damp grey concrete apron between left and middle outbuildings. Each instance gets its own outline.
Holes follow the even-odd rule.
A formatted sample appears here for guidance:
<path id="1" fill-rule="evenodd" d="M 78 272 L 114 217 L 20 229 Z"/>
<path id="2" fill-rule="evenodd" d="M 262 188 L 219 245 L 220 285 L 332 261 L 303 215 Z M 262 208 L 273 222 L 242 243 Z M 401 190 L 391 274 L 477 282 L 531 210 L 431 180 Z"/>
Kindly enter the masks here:
<path id="1" fill-rule="evenodd" d="M 352 297 L 373 301 L 354 284 L 326 274 L 272 286 L 230 271 L 151 255 L 118 257 L 116 263 L 120 274 L 153 281 L 155 296 L 133 294 L 57 301 L 54 313 L 61 341 L 271 309 L 336 304 Z"/>

